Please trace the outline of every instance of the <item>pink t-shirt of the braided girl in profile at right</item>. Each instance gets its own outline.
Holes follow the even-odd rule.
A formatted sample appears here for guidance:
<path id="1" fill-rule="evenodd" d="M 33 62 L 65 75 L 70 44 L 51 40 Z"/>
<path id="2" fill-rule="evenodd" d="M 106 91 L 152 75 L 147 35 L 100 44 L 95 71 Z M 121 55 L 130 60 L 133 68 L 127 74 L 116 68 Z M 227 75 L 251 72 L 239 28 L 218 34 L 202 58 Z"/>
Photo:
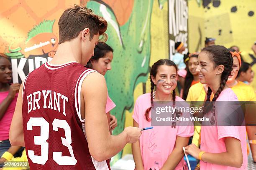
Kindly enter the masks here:
<path id="1" fill-rule="evenodd" d="M 227 88 L 223 90 L 216 101 L 238 101 L 236 94 Z M 215 116 L 218 119 L 217 108 Z M 219 111 L 218 111 L 219 110 Z M 218 122 L 218 121 L 217 121 Z M 225 137 L 233 137 L 241 141 L 243 153 L 243 165 L 241 168 L 234 168 L 212 163 L 200 161 L 200 170 L 246 170 L 247 169 L 247 149 L 246 149 L 246 128 L 245 126 L 202 126 L 201 127 L 201 150 L 208 153 L 223 153 L 226 152 Z"/>

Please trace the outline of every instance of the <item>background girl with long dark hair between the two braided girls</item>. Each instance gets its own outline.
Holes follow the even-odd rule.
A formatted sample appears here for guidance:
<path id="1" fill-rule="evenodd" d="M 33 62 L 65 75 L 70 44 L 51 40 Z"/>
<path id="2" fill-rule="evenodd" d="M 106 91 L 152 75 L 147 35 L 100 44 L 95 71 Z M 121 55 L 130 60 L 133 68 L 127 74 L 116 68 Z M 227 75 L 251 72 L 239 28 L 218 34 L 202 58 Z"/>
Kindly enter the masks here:
<path id="1" fill-rule="evenodd" d="M 189 88 L 199 82 L 198 72 L 196 68 L 198 65 L 198 53 L 189 54 L 189 60 L 187 61 L 187 75 L 185 77 L 184 89 L 182 99 L 187 99 Z"/>

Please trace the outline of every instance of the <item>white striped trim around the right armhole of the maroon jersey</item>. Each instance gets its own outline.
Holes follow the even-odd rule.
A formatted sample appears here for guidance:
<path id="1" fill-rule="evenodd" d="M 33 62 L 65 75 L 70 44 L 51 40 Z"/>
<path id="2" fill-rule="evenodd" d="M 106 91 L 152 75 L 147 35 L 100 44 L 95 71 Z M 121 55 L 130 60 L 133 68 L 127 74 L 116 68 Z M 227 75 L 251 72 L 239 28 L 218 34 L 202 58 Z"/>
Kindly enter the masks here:
<path id="1" fill-rule="evenodd" d="M 77 85 L 76 85 L 76 89 L 75 89 L 75 94 L 74 94 L 75 107 L 76 107 L 77 115 L 81 122 L 84 122 L 84 119 L 82 119 L 82 117 L 81 117 L 81 107 L 80 107 L 81 106 L 81 88 L 82 88 L 82 83 L 84 81 L 84 78 L 91 72 L 97 72 L 97 71 L 88 69 L 88 70 L 85 70 L 84 72 L 82 72 L 82 74 L 80 75 L 80 77 L 77 80 Z"/>

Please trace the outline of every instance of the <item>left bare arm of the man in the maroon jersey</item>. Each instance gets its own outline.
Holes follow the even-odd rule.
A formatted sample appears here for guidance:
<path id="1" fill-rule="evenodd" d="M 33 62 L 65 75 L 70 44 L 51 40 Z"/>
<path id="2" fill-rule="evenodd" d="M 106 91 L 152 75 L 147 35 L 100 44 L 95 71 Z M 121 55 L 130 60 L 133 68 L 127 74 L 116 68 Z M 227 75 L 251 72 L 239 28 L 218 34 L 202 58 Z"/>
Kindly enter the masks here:
<path id="1" fill-rule="evenodd" d="M 10 126 L 9 140 L 13 146 L 25 146 L 22 123 L 22 87 L 23 83 L 20 85 L 13 120 Z"/>

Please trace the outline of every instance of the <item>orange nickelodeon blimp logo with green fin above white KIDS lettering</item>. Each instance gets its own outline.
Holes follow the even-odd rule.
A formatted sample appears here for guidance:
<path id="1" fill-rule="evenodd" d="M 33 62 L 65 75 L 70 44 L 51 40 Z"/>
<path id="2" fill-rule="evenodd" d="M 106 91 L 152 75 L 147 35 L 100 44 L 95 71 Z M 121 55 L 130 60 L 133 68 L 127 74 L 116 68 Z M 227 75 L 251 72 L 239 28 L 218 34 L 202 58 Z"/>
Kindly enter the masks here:
<path id="1" fill-rule="evenodd" d="M 54 22 L 42 21 L 28 31 L 25 42 L 21 42 L 18 47 L 10 44 L 5 51 L 11 59 L 14 83 L 21 83 L 29 72 L 54 57 L 58 47 L 58 38 L 52 32 Z"/>

